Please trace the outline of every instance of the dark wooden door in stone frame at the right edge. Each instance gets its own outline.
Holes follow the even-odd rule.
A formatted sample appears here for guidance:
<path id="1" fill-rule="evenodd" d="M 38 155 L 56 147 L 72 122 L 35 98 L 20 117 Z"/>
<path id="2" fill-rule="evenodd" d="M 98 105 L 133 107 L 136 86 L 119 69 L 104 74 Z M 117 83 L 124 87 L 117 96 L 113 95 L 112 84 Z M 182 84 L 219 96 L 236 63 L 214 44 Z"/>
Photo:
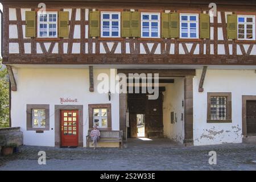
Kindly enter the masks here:
<path id="1" fill-rule="evenodd" d="M 246 101 L 247 134 L 256 134 L 256 101 Z"/>

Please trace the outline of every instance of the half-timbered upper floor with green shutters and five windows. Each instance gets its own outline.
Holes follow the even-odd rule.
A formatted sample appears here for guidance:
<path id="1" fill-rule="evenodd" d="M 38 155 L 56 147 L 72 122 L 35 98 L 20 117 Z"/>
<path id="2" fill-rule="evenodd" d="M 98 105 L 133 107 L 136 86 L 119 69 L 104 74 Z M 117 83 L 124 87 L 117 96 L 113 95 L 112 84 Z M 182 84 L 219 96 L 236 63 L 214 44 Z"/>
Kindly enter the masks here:
<path id="1" fill-rule="evenodd" d="M 255 1 L 1 2 L 5 64 L 256 65 Z"/>

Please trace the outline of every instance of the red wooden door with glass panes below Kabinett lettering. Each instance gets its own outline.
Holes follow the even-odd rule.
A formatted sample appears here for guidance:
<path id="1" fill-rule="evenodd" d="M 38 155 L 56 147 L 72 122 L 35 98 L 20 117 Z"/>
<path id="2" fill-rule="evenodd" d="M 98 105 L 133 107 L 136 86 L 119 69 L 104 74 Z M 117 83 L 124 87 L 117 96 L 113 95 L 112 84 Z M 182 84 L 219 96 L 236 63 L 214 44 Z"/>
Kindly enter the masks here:
<path id="1" fill-rule="evenodd" d="M 61 146 L 79 145 L 78 110 L 61 110 Z"/>

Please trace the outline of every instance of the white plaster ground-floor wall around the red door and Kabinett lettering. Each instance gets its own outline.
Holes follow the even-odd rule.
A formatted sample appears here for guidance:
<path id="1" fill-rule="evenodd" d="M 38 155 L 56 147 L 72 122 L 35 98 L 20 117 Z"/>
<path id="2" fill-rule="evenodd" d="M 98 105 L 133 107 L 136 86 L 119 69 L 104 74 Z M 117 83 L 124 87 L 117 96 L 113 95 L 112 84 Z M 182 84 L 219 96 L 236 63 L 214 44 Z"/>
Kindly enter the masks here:
<path id="1" fill-rule="evenodd" d="M 12 126 L 20 126 L 24 144 L 33 146 L 55 145 L 54 107 L 60 105 L 60 97 L 77 98 L 75 105 L 83 105 L 84 146 L 88 133 L 88 104 L 112 104 L 112 129 L 119 130 L 119 94 L 97 92 L 97 76 L 110 75 L 110 69 L 94 69 L 94 92 L 89 92 L 88 69 L 16 68 L 14 74 L 18 86 L 12 92 Z M 49 104 L 49 131 L 35 133 L 26 130 L 26 105 Z M 72 104 L 71 104 L 72 105 Z M 53 130 L 51 130 L 51 128 Z"/>

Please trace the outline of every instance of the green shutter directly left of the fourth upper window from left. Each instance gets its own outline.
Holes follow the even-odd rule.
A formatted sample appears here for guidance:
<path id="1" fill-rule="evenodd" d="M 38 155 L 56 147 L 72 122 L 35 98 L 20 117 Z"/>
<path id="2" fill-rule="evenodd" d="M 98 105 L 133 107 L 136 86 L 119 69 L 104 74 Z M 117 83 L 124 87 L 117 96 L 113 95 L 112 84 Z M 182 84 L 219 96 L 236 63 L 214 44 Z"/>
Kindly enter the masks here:
<path id="1" fill-rule="evenodd" d="M 179 13 L 170 14 L 170 38 L 179 38 Z"/>

